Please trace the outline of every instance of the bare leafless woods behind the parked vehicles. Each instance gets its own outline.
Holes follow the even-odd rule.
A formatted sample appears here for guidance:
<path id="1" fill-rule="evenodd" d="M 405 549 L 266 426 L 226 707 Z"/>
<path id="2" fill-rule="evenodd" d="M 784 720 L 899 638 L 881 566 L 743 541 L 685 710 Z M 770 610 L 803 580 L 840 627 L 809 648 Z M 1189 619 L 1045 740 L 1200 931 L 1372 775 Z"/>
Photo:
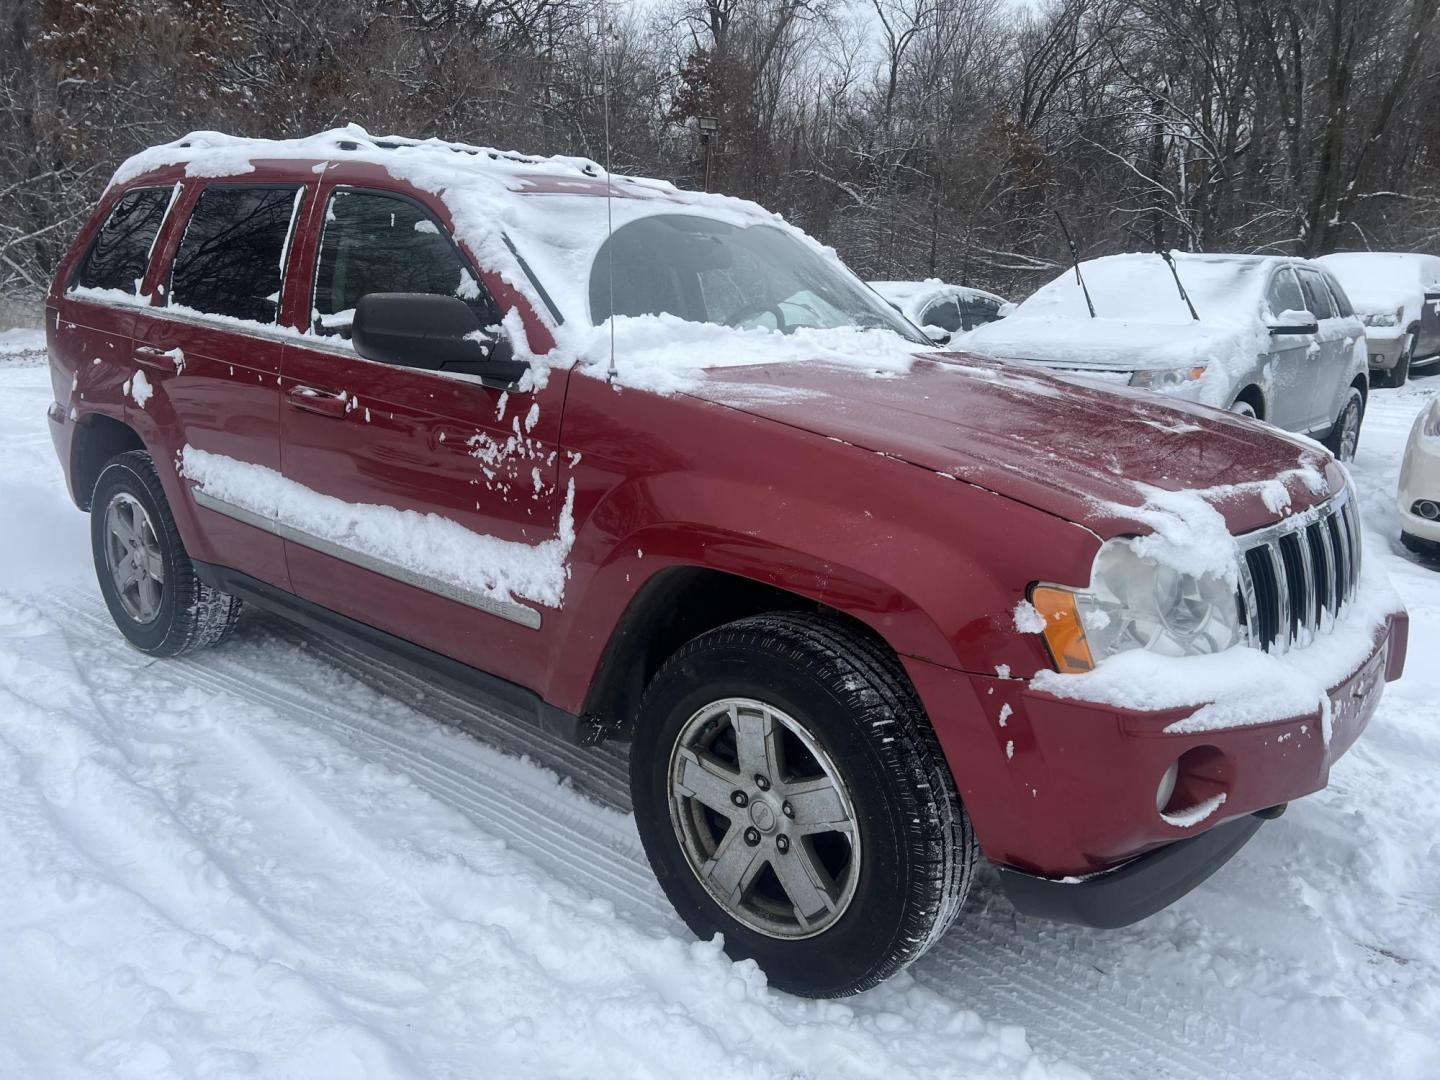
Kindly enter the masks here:
<path id="1" fill-rule="evenodd" d="M 1436 251 L 1437 10 L 0 0 L 0 292 L 42 289 L 114 167 L 193 130 L 603 160 L 602 56 L 616 171 L 708 164 L 864 276 L 1025 294 L 1068 259 L 1057 210 L 1083 256 Z"/>

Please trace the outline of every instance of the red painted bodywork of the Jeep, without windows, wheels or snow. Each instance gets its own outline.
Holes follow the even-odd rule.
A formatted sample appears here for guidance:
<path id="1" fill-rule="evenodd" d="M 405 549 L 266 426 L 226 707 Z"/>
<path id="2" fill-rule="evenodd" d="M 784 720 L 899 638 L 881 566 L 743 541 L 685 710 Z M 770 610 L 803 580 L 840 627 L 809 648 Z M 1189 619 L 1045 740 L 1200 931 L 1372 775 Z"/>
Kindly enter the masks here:
<path id="1" fill-rule="evenodd" d="M 1156 814 L 1155 788 L 1187 750 L 1212 747 L 1215 762 L 1230 763 L 1228 772 L 1215 765 L 1212 775 L 1187 780 L 1225 791 L 1205 827 L 1323 786 L 1368 720 L 1378 681 L 1400 674 L 1403 616 L 1372 664 L 1338 687 L 1338 700 L 1359 687 L 1361 704 L 1329 744 L 1318 717 L 1181 736 L 1162 729 L 1189 710 L 1126 713 L 1034 693 L 1025 677 L 1048 658 L 1037 635 L 1015 631 L 1017 602 L 1037 580 L 1087 583 L 1104 539 L 1148 531 L 1128 513 L 1143 498 L 1139 485 L 1214 488 L 1310 465 L 1338 491 L 1344 472 L 1289 436 L 1200 406 L 959 354 L 920 360 L 909 376 L 890 379 L 819 364 L 726 367 L 698 390 L 671 396 L 564 367 L 552 367 L 539 390 L 503 395 L 472 379 L 372 363 L 333 340 L 301 337 L 328 192 L 400 192 L 446 228 L 452 222 L 435 193 L 377 164 L 317 171 L 323 164 L 255 161 L 253 171 L 228 179 L 308 189 L 281 325 L 268 336 L 177 323 L 163 311 L 160 285 L 184 216 L 210 183 L 186 179 L 181 166 L 108 192 L 52 289 L 52 431 L 62 462 L 72 471 L 72 444 L 94 418 L 130 423 L 153 452 L 197 559 L 576 714 L 616 625 L 670 567 L 721 570 L 827 605 L 901 657 L 985 852 L 1047 876 L 1092 873 L 1185 835 Z M 144 285 L 153 307 L 66 297 L 65 282 L 114 200 L 177 181 L 183 196 Z M 527 194 L 516 197 L 579 190 L 543 176 L 520 189 Z M 468 252 L 501 310 L 518 312 L 530 350 L 550 350 L 549 317 L 475 255 Z M 151 399 L 143 409 L 127 400 L 121 387 L 137 350 L 173 347 L 183 350 L 183 367 L 164 370 L 151 354 Z M 755 384 L 770 392 L 755 393 Z M 298 408 L 307 405 L 300 387 L 346 397 L 317 412 Z M 511 451 L 492 461 L 475 454 L 511 439 Z M 530 629 L 203 510 L 171 465 L 184 445 L 265 465 L 347 503 L 436 514 L 530 544 L 557 536 L 573 485 L 564 602 L 541 609 L 540 628 Z M 1299 510 L 1328 492 L 1293 481 L 1290 494 Z M 1254 492 L 1218 500 L 1217 508 L 1234 533 L 1276 517 Z M 998 678 L 999 668 L 1015 677 Z M 1004 727 L 1002 706 L 1011 710 Z"/>

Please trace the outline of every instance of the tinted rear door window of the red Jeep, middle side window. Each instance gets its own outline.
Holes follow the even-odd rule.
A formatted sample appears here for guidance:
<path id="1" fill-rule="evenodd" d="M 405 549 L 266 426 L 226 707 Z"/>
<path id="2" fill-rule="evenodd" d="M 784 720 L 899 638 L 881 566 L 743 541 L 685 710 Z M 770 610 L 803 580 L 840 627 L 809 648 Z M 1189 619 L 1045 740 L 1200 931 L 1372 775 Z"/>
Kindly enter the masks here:
<path id="1" fill-rule="evenodd" d="M 274 323 L 300 187 L 212 186 L 200 193 L 170 272 L 170 302 Z"/>

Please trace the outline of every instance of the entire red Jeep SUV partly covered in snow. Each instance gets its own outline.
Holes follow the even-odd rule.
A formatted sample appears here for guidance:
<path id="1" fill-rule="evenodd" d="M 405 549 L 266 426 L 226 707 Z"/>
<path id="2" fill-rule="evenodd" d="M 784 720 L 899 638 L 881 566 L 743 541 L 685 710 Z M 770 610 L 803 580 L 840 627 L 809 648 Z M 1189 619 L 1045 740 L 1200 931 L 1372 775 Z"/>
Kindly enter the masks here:
<path id="1" fill-rule="evenodd" d="M 759 207 L 344 128 L 121 167 L 55 445 L 153 655 L 242 603 L 631 742 L 667 894 L 770 981 L 919 956 L 979 858 L 1142 919 L 1404 662 L 1323 451 L 937 351 Z"/>

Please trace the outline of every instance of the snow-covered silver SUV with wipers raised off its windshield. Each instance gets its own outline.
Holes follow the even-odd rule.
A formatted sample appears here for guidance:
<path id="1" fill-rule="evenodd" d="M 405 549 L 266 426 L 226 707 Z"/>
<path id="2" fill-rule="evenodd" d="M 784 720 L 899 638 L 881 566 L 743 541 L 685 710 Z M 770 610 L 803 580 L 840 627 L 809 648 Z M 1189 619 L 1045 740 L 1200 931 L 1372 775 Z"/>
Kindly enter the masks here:
<path id="1" fill-rule="evenodd" d="M 1081 262 L 1084 285 L 1066 271 L 965 347 L 1256 416 L 1352 458 L 1368 380 L 1364 325 L 1339 284 L 1305 259 L 1174 261 L 1175 275 L 1159 255 Z"/>

